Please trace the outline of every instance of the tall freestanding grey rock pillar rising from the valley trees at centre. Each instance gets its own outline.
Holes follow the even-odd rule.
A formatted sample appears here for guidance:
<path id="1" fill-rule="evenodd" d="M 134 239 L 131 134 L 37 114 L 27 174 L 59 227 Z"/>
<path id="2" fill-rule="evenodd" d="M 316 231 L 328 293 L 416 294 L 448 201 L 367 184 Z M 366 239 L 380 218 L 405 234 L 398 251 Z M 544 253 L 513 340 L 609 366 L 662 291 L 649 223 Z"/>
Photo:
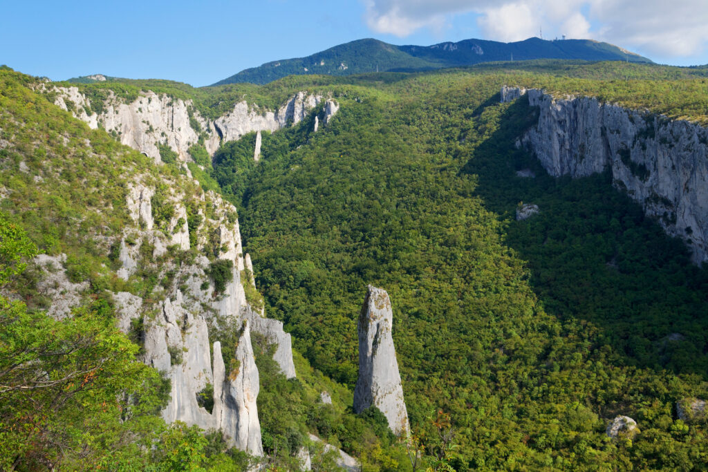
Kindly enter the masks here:
<path id="1" fill-rule="evenodd" d="M 409 432 L 392 338 L 393 311 L 389 294 L 369 285 L 359 315 L 359 378 L 354 389 L 354 413 L 376 405 L 397 434 Z"/>

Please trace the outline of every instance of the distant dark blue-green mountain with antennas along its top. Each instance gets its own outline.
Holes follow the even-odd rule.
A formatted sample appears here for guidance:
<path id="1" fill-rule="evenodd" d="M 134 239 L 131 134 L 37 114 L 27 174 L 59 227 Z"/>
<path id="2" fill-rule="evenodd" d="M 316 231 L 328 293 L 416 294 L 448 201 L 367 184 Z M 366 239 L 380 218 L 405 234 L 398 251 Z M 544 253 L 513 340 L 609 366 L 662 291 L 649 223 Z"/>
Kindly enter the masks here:
<path id="1" fill-rule="evenodd" d="M 581 59 L 652 63 L 651 59 L 593 40 L 542 40 L 518 42 L 462 40 L 432 46 L 396 46 L 365 39 L 347 42 L 307 57 L 266 62 L 245 69 L 214 85 L 251 82 L 268 84 L 289 75 L 326 74 L 345 76 L 375 71 L 424 71 L 464 67 L 480 62 L 526 61 L 530 59 Z"/>

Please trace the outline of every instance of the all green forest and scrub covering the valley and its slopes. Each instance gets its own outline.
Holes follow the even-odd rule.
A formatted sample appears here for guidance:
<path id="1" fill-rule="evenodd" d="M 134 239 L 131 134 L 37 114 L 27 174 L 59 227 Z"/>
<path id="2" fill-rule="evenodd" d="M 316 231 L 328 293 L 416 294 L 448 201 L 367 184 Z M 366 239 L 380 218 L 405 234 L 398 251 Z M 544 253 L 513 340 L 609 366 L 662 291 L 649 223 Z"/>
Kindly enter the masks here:
<path id="1" fill-rule="evenodd" d="M 238 207 L 265 312 L 293 336 L 297 381 L 278 373 L 272 347 L 253 340 L 271 470 L 292 468 L 314 433 L 358 456 L 366 471 L 411 471 L 415 449 L 417 470 L 700 471 L 708 464 L 706 420 L 680 420 L 675 406 L 708 396 L 708 268 L 692 265 L 680 241 L 612 190 L 609 175 L 547 175 L 514 146 L 536 110 L 524 100 L 501 104 L 498 91 L 535 86 L 708 122 L 704 72 L 535 61 L 265 86 L 78 86 L 94 100 L 109 90 L 124 99 L 168 93 L 208 117 L 243 96 L 274 108 L 303 89 L 341 104 L 317 133 L 317 110 L 264 133 L 258 163 L 254 134 L 224 143 L 211 162 L 194 149 L 198 163 L 189 163 L 205 190 Z M 60 408 L 52 392 L 0 386 L 2 467 L 245 468 L 249 459 L 219 434 L 161 420 L 164 381 L 136 362 L 139 340 L 113 326 L 108 293 L 149 295 L 162 282 L 145 272 L 145 282 L 122 284 L 106 248 L 89 242 L 127 221 L 127 175 L 182 182 L 185 170 L 152 166 L 90 130 L 52 105 L 51 94 L 34 93 L 31 77 L 3 70 L 0 79 L 0 139 L 11 143 L 0 150 L 0 183 L 9 190 L 0 200 L 0 379 L 25 381 L 27 372 L 7 369 L 28 355 L 52 375 L 74 375 L 54 386 L 67 399 Z M 535 178 L 516 175 L 522 169 Z M 539 205 L 539 214 L 515 221 L 522 202 Z M 62 321 L 46 316 L 48 301 L 33 292 L 38 275 L 31 263 L 23 270 L 38 251 L 67 253 L 93 301 Z M 380 412 L 350 409 L 367 284 L 392 299 L 414 434 L 407 447 Z M 86 349 L 47 356 L 57 343 Z M 107 357 L 110 372 L 97 370 Z M 86 369 L 95 377 L 77 381 Z M 323 390 L 333 405 L 319 401 Z M 639 433 L 607 437 L 615 415 L 634 418 Z M 332 457 L 310 447 L 314 468 L 333 470 Z"/>

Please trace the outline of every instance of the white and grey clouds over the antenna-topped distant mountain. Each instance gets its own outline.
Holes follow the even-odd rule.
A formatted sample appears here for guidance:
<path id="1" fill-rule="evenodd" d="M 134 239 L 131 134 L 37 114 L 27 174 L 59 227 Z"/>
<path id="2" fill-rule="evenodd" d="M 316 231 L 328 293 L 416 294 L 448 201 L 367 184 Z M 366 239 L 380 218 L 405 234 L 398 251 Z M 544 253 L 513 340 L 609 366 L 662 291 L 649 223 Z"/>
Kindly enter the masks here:
<path id="1" fill-rule="evenodd" d="M 442 32 L 452 16 L 477 13 L 484 38 L 518 41 L 592 38 L 664 57 L 689 56 L 708 44 L 706 0 L 363 0 L 365 21 L 399 37 Z"/>

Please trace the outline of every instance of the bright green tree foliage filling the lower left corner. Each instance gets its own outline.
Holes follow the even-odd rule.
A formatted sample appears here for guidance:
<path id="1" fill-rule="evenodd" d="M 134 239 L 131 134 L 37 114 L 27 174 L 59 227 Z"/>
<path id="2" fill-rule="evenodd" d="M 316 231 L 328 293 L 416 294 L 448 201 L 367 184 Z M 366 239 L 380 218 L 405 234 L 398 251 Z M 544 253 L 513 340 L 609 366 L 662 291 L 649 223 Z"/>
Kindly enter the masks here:
<path id="1" fill-rule="evenodd" d="M 169 390 L 111 314 L 99 303 L 55 321 L 0 297 L 2 468 L 96 466 L 118 446 L 139 457 L 159 430 Z"/>

